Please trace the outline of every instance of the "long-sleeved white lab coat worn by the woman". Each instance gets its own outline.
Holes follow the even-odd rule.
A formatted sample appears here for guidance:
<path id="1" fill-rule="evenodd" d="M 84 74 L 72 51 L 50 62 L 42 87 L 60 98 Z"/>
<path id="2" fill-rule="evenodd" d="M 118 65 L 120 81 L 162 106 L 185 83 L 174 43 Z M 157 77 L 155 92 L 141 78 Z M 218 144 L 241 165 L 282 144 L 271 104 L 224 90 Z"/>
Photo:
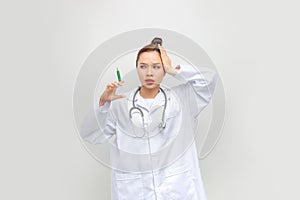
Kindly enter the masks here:
<path id="1" fill-rule="evenodd" d="M 216 73 L 181 65 L 174 77 L 186 83 L 165 89 L 166 128 L 162 131 L 151 127 L 160 122 L 157 118 L 161 118 L 165 102 L 162 92 L 151 107 L 148 100 L 136 95 L 135 105 L 143 111 L 150 138 L 133 137 L 145 130 L 130 126 L 131 122 L 141 122 L 128 114 L 136 90 L 97 108 L 98 127 L 92 127 L 88 117 L 82 124 L 80 134 L 92 144 L 116 136 L 111 150 L 113 200 L 206 200 L 193 136 L 195 119 L 211 100 Z"/>

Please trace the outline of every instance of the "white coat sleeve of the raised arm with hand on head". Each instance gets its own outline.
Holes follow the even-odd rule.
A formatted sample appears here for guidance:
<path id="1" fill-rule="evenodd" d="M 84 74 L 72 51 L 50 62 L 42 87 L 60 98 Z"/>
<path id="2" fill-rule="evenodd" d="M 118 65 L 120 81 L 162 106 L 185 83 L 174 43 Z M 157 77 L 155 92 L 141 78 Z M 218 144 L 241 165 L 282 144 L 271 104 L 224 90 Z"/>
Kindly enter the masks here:
<path id="1" fill-rule="evenodd" d="M 175 91 L 177 90 L 182 97 L 183 103 L 189 108 L 191 114 L 197 117 L 212 98 L 217 80 L 216 72 L 207 67 L 180 65 L 174 77 L 186 82 L 175 87 Z"/>

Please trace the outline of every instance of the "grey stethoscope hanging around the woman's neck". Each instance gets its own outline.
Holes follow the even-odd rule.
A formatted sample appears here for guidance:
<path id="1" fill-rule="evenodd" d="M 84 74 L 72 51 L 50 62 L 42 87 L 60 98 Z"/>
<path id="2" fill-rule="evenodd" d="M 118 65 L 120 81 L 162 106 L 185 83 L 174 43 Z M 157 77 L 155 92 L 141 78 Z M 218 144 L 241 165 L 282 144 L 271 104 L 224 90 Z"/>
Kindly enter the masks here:
<path id="1" fill-rule="evenodd" d="M 165 91 L 164 91 L 161 87 L 160 87 L 159 89 L 160 89 L 160 91 L 161 91 L 161 92 L 163 93 L 163 95 L 164 95 L 165 103 L 164 103 L 164 110 L 163 110 L 161 122 L 159 123 L 159 126 L 158 126 L 158 127 L 164 129 L 164 128 L 166 128 L 165 113 L 166 113 L 166 108 L 167 108 L 167 95 L 166 95 Z M 135 97 L 136 97 L 137 93 L 138 93 L 140 90 L 141 90 L 141 87 L 139 87 L 139 88 L 135 91 L 135 93 L 134 93 L 134 95 L 133 95 L 133 98 L 132 98 L 132 108 L 130 108 L 130 110 L 129 110 L 129 117 L 130 117 L 130 119 L 132 119 L 132 113 L 133 113 L 133 112 L 139 113 L 139 114 L 141 115 L 141 117 L 142 117 L 142 119 L 143 119 L 143 123 L 144 123 L 144 114 L 143 114 L 142 109 L 140 109 L 140 108 L 138 108 L 138 107 L 135 106 Z"/>

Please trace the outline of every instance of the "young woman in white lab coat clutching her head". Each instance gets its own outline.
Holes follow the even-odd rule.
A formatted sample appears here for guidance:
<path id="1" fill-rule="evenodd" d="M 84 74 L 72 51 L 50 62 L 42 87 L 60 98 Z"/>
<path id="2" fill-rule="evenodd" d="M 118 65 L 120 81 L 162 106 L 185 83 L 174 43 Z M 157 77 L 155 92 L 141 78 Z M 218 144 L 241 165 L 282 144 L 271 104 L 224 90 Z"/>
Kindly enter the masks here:
<path id="1" fill-rule="evenodd" d="M 215 72 L 188 65 L 172 66 L 154 38 L 137 54 L 140 87 L 116 94 L 123 84 L 107 85 L 96 110 L 99 127 L 83 123 L 82 137 L 103 143 L 115 136 L 111 150 L 112 199 L 205 200 L 196 145 L 195 119 L 208 105 Z M 162 87 L 166 74 L 184 81 Z"/>

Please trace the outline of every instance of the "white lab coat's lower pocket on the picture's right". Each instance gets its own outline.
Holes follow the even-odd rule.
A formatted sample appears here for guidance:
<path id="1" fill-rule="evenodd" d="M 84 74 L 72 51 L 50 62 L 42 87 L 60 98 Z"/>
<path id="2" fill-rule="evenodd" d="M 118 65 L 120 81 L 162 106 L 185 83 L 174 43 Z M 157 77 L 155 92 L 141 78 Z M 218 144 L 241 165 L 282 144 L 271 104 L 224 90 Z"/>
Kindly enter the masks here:
<path id="1" fill-rule="evenodd" d="M 178 167 L 165 172 L 164 198 L 172 200 L 196 200 L 196 190 L 190 169 Z"/>

